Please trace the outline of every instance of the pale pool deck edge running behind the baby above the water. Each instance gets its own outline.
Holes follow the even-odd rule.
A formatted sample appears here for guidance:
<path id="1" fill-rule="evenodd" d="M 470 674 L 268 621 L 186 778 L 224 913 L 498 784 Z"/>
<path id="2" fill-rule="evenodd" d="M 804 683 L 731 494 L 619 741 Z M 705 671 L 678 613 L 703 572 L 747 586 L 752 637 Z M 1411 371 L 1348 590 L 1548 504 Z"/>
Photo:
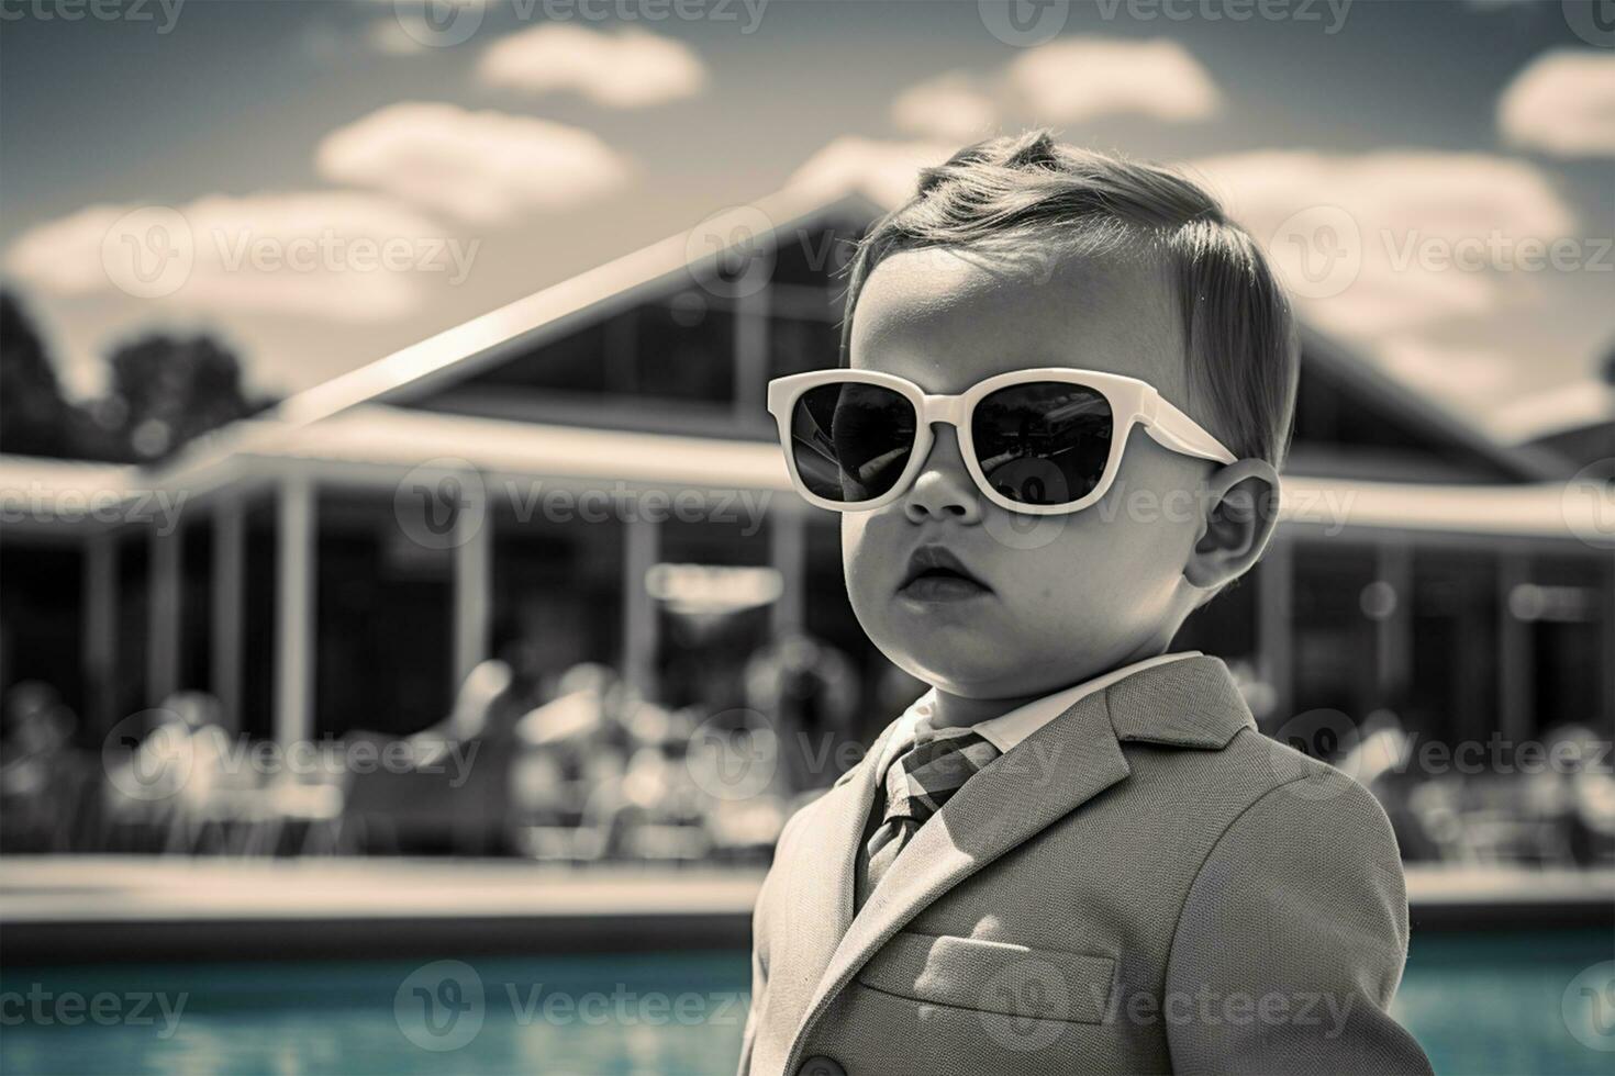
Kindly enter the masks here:
<path id="1" fill-rule="evenodd" d="M 732 949 L 761 870 L 0 858 L 0 963 Z M 1615 871 L 1408 868 L 1415 929 L 1615 923 Z"/>

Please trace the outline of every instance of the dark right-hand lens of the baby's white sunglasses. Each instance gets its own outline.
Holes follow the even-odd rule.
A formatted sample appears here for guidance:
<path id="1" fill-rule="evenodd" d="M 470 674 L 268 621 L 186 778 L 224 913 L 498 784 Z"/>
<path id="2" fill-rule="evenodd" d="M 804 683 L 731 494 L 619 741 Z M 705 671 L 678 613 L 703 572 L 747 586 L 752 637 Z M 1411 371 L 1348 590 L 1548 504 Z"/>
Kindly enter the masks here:
<path id="1" fill-rule="evenodd" d="M 1105 394 L 1058 381 L 992 392 L 971 416 L 982 474 L 1022 505 L 1069 505 L 1093 492 L 1114 427 Z"/>

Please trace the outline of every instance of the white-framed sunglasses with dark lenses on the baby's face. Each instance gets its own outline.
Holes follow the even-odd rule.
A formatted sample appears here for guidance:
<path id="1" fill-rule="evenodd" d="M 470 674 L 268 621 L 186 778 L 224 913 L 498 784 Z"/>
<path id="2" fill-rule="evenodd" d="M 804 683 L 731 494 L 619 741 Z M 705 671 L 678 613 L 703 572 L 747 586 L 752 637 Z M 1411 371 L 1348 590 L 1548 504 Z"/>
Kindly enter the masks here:
<path id="1" fill-rule="evenodd" d="M 1148 382 L 1064 366 L 996 374 L 959 395 L 872 369 L 817 369 L 770 381 L 769 413 L 796 489 L 835 511 L 901 497 L 930 455 L 932 423 L 958 431 L 964 468 L 990 502 L 1034 516 L 1103 497 L 1135 424 L 1172 452 L 1237 458 Z"/>

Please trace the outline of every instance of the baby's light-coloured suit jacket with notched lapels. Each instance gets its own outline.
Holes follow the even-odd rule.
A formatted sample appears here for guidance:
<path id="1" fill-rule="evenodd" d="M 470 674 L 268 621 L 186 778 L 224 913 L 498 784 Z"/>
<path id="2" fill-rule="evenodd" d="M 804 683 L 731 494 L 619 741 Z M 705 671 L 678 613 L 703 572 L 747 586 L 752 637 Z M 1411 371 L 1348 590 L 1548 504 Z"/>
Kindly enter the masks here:
<path id="1" fill-rule="evenodd" d="M 853 913 L 862 763 L 787 824 L 740 1071 L 1429 1073 L 1387 1013 L 1395 837 L 1216 658 L 1129 676 L 972 778 Z"/>

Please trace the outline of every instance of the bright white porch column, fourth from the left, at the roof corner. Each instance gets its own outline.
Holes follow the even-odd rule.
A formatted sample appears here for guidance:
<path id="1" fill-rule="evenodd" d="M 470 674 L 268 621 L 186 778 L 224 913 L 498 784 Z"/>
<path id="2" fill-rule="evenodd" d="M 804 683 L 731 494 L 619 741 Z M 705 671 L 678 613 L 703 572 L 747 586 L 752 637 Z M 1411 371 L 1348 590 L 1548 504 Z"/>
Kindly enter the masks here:
<path id="1" fill-rule="evenodd" d="M 276 503 L 275 740 L 313 736 L 315 500 L 307 474 L 281 479 Z"/>

